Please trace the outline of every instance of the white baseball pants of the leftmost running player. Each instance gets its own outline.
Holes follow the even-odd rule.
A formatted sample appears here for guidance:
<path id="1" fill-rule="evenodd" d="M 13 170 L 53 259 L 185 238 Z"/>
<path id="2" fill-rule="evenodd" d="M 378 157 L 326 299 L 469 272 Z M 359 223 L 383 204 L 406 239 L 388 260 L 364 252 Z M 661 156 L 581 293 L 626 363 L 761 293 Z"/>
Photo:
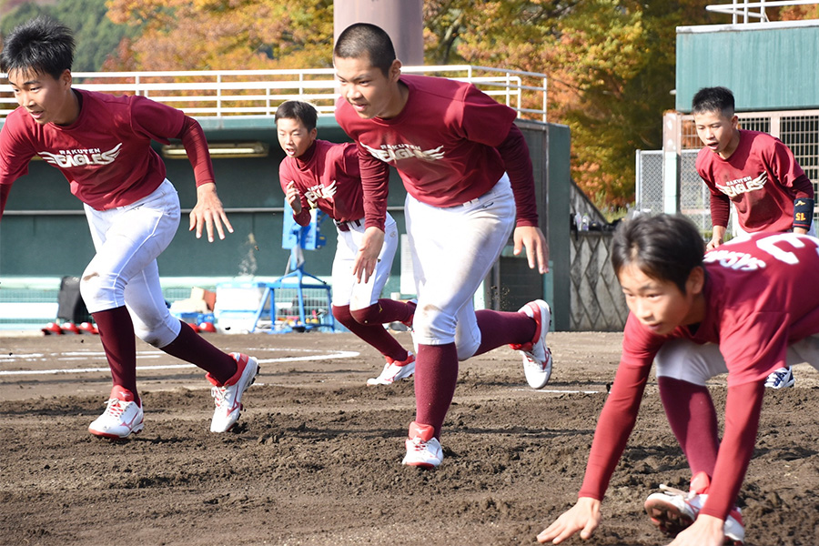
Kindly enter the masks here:
<path id="1" fill-rule="evenodd" d="M 162 295 L 157 257 L 177 233 L 177 190 L 165 180 L 132 205 L 85 208 L 96 249 L 80 281 L 86 308 L 96 313 L 125 305 L 136 335 L 155 347 L 165 347 L 177 339 L 180 324 Z"/>

